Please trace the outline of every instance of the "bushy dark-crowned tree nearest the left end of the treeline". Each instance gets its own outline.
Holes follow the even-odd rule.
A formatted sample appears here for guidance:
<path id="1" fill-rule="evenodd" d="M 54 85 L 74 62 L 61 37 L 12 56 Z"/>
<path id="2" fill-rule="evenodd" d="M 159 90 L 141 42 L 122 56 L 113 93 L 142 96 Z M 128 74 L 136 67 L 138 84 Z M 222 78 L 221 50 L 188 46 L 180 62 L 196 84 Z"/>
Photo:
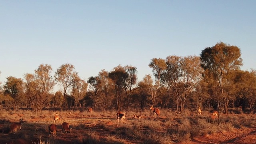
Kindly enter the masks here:
<path id="1" fill-rule="evenodd" d="M 18 105 L 22 100 L 23 81 L 21 78 L 8 76 L 4 84 L 4 94 L 9 95 L 12 101 L 13 110 L 18 110 Z"/>

